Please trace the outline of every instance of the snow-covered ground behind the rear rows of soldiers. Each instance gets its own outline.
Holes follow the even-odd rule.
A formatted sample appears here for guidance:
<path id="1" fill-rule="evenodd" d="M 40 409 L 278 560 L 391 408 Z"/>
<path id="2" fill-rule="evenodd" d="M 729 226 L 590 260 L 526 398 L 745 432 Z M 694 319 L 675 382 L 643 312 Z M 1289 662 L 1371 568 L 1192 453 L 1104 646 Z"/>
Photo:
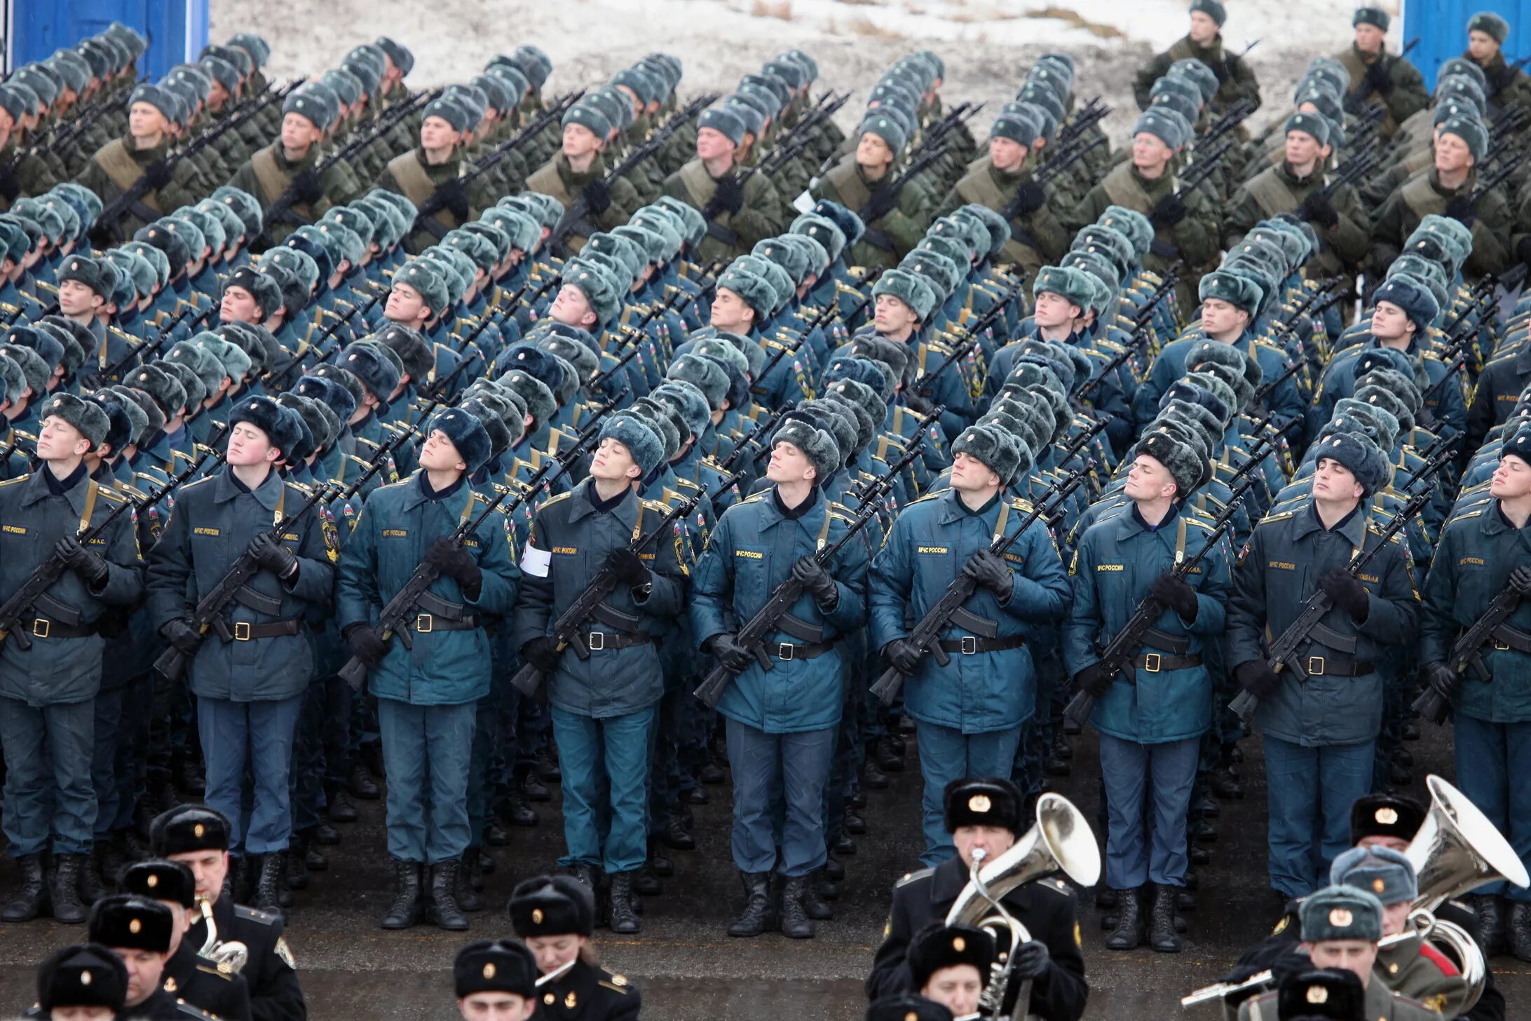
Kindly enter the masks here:
<path id="1" fill-rule="evenodd" d="M 819 61 L 819 89 L 867 90 L 899 55 L 932 49 L 946 61 L 948 104 L 1007 101 L 1038 54 L 1075 57 L 1075 93 L 1115 109 L 1107 130 L 1124 138 L 1136 116 L 1133 73 L 1185 34 L 1187 0 L 326 0 L 323 6 L 211 0 L 211 38 L 254 31 L 271 43 L 268 73 L 282 80 L 335 66 L 348 49 L 386 34 L 409 46 L 413 87 L 462 80 L 522 43 L 554 63 L 550 93 L 603 81 L 655 49 L 684 63 L 681 93 L 727 92 L 739 75 L 802 47 Z M 1396 9 L 1398 0 L 1382 6 Z M 1266 106 L 1262 126 L 1286 112 L 1303 66 L 1349 44 L 1350 0 L 1228 0 L 1223 38 L 1232 52 L 1257 43 L 1249 63 Z M 1393 35 L 1401 35 L 1396 29 Z M 986 115 L 984 115 L 986 116 Z M 984 126 L 975 124 L 975 135 Z"/>

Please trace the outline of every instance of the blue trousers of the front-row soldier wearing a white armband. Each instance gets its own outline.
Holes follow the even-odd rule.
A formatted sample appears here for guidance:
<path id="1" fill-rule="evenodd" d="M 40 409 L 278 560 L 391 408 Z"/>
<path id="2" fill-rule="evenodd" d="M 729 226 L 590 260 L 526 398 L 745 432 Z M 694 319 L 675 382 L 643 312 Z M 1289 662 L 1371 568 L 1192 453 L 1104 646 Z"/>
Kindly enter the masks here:
<path id="1" fill-rule="evenodd" d="M 597 719 L 551 706 L 550 715 L 563 773 L 566 854 L 559 865 L 596 865 L 606 873 L 641 868 L 649 836 L 649 732 L 658 707 Z M 609 787 L 605 799 L 603 781 Z M 603 822 L 609 825 L 605 845 Z"/>

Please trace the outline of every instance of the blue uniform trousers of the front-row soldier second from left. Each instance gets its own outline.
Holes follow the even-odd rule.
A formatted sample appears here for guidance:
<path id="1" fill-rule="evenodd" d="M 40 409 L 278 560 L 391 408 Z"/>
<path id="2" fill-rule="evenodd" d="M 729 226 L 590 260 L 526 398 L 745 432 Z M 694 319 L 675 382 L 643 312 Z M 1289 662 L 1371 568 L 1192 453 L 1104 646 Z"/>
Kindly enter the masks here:
<path id="1" fill-rule="evenodd" d="M 285 851 L 292 834 L 288 775 L 303 693 L 259 703 L 197 698 L 197 735 L 207 756 L 207 805 L 228 816 L 228 845 L 245 854 Z M 245 765 L 253 798 L 240 810 Z"/>

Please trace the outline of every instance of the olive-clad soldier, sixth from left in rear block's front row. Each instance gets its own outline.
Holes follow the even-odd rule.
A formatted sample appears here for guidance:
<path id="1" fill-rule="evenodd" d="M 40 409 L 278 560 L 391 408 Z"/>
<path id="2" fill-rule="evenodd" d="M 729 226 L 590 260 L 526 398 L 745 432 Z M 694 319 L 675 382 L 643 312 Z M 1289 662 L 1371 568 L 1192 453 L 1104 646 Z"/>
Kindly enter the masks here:
<path id="1" fill-rule="evenodd" d="M 706 265 L 749 253 L 785 227 L 782 199 L 762 173 L 743 170 L 738 147 L 744 121 L 718 106 L 697 119 L 697 158 L 664 179 L 664 194 L 701 210 L 707 236 L 690 259 Z"/>

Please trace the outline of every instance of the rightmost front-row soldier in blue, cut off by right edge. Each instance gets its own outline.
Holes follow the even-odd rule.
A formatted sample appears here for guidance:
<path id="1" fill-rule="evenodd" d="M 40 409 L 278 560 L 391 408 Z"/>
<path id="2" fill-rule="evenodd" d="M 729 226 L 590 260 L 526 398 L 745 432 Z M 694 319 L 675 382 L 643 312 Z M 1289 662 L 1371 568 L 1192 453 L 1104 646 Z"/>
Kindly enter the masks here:
<path id="1" fill-rule="evenodd" d="M 1419 658 L 1425 683 L 1453 706 L 1456 775 L 1462 793 L 1484 810 L 1525 862 L 1531 862 L 1531 804 L 1525 785 L 1511 779 L 1520 752 L 1531 749 L 1522 723 L 1531 719 L 1531 605 L 1522 605 L 1494 629 L 1494 640 L 1459 674 L 1451 646 L 1507 586 L 1531 594 L 1531 551 L 1523 530 L 1531 519 L 1531 435 L 1503 441 L 1488 501 L 1454 511 L 1441 530 L 1425 576 Z M 1508 899 L 1510 946 L 1531 960 L 1531 891 L 1499 882 L 1474 892 L 1485 954 L 1503 944 L 1500 902 Z"/>

